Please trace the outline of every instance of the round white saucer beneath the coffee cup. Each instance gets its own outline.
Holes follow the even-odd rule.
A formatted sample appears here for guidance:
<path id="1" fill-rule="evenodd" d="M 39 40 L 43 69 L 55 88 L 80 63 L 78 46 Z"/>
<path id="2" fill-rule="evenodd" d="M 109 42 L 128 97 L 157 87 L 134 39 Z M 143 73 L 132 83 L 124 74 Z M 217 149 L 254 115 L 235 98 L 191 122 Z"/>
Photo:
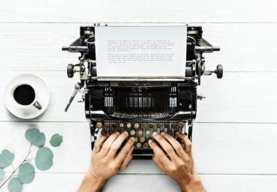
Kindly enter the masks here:
<path id="1" fill-rule="evenodd" d="M 37 101 L 39 101 L 39 104 L 42 106 L 41 110 L 37 110 L 37 108 L 34 107 L 32 110 L 24 111 L 24 108 L 19 108 L 17 105 L 15 105 L 14 102 L 12 102 L 12 99 L 10 98 L 12 88 L 17 84 L 22 83 L 33 86 L 33 88 L 35 89 Z M 49 104 L 49 99 L 50 90 L 48 88 L 48 85 L 46 84 L 44 79 L 42 79 L 42 77 L 39 77 L 34 73 L 21 73 L 13 77 L 6 86 L 4 95 L 4 102 L 6 104 L 6 107 L 8 108 L 8 111 L 10 111 L 12 115 L 15 115 L 16 117 L 19 117 L 21 119 L 33 119 L 35 117 L 38 117 L 39 115 L 42 115 Z"/>

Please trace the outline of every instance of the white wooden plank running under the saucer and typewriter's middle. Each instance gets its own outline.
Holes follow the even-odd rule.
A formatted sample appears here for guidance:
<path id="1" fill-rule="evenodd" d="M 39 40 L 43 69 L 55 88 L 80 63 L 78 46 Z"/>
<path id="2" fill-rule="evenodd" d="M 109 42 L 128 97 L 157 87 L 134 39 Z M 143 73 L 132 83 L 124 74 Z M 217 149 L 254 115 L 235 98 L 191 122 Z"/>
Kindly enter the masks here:
<path id="1" fill-rule="evenodd" d="M 11 77 L 19 72 L 0 71 L 0 95 Z M 51 102 L 44 115 L 33 119 L 37 122 L 87 122 L 84 103 L 78 103 L 79 94 L 69 111 L 64 108 L 73 93 L 78 78 L 69 79 L 65 71 L 37 71 L 51 87 Z M 206 99 L 198 101 L 196 122 L 271 122 L 276 123 L 277 103 L 271 94 L 277 73 L 225 73 L 223 79 L 215 76 L 202 77 L 198 93 Z M 8 113 L 0 97 L 0 121 L 18 121 Z"/>

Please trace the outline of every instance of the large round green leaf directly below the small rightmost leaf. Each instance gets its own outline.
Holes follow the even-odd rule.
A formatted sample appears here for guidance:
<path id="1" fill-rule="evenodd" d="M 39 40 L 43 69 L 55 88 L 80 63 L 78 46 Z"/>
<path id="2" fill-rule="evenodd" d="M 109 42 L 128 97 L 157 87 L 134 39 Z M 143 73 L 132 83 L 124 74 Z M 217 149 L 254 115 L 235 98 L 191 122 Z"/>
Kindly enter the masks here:
<path id="1" fill-rule="evenodd" d="M 53 153 L 50 148 L 42 147 L 37 150 L 37 155 L 35 157 L 35 165 L 37 169 L 41 171 L 46 171 L 53 165 Z"/>

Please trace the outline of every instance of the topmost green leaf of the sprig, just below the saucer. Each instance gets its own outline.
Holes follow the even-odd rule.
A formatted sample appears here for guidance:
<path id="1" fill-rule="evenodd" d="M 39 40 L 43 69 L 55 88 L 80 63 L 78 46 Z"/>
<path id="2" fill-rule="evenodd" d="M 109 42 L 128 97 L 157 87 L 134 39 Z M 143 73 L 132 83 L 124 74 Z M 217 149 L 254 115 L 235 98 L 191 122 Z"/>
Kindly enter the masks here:
<path id="1" fill-rule="evenodd" d="M 25 137 L 28 142 L 35 146 L 43 146 L 46 141 L 44 133 L 40 133 L 38 128 L 28 128 Z"/>

